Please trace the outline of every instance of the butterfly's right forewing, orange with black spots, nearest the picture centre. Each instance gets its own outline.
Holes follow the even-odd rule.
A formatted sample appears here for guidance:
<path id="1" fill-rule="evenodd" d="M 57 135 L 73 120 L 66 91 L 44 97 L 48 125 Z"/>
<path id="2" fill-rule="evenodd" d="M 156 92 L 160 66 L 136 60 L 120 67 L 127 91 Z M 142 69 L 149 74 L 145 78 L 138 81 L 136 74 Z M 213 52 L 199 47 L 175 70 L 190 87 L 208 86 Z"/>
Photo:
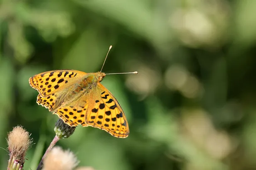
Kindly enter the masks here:
<path id="1" fill-rule="evenodd" d="M 103 129 L 112 136 L 126 138 L 129 127 L 126 115 L 116 98 L 98 83 L 86 113 L 86 125 Z"/>

